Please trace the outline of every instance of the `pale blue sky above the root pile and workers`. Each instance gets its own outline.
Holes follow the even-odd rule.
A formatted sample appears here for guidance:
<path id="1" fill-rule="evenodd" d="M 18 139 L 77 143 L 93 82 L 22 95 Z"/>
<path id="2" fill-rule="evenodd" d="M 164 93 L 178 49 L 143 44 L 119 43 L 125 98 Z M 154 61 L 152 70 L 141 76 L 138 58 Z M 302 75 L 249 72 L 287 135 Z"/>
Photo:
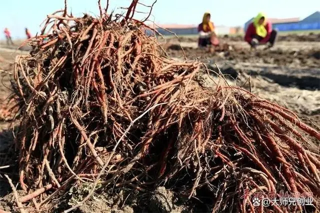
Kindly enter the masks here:
<path id="1" fill-rule="evenodd" d="M 151 5 L 154 0 L 140 0 Z M 68 0 L 68 9 L 73 15 L 81 13 L 98 14 L 97 0 Z M 101 0 L 105 6 L 106 0 Z M 127 7 L 130 0 L 109 0 L 108 11 L 120 6 Z M 47 14 L 64 7 L 64 0 L 1 0 L 0 36 L 8 27 L 12 37 L 24 38 L 24 27 L 35 35 Z M 149 8 L 139 6 L 138 10 L 147 12 Z M 116 11 L 119 11 L 117 9 Z M 320 0 L 157 0 L 149 19 L 159 24 L 198 24 L 205 11 L 211 13 L 215 25 L 243 26 L 244 23 L 263 11 L 272 18 L 300 17 L 320 10 Z M 145 14 L 137 13 L 142 19 Z"/>

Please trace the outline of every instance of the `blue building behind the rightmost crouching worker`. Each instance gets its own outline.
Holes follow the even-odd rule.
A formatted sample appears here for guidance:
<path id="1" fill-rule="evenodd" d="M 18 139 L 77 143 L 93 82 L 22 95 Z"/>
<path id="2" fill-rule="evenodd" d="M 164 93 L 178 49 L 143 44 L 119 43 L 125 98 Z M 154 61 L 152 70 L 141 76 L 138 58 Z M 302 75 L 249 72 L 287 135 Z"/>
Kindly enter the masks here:
<path id="1" fill-rule="evenodd" d="M 253 18 L 245 22 L 244 30 L 252 22 Z M 269 18 L 272 27 L 278 31 L 296 31 L 296 30 L 320 30 L 320 11 L 316 11 L 306 18 L 300 20 L 299 18 Z"/>

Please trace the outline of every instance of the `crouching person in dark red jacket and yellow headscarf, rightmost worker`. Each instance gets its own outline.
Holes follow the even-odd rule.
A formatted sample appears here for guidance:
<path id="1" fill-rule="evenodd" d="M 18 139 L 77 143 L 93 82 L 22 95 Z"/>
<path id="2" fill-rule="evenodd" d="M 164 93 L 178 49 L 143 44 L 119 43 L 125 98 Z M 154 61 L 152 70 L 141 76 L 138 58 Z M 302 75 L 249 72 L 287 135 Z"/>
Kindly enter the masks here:
<path id="1" fill-rule="evenodd" d="M 244 36 L 244 40 L 250 44 L 251 48 L 255 48 L 259 44 L 266 44 L 266 48 L 270 48 L 274 45 L 275 38 L 276 31 L 272 29 L 271 22 L 262 12 L 253 18 Z"/>

